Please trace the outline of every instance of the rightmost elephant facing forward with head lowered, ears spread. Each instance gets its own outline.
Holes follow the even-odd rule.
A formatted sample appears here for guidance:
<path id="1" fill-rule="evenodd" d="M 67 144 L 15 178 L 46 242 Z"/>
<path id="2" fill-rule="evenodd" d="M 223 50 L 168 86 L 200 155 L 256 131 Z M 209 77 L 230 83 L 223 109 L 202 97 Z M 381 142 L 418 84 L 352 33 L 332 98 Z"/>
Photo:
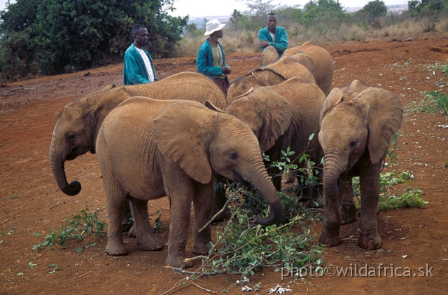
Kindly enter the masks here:
<path id="1" fill-rule="evenodd" d="M 360 90 L 360 91 L 358 91 Z M 355 219 L 352 177 L 360 177 L 360 223 L 358 246 L 379 249 L 377 212 L 379 173 L 391 137 L 402 122 L 403 109 L 397 95 L 381 88 L 365 87 L 353 81 L 346 88 L 334 88 L 321 110 L 319 143 L 324 153 L 323 186 L 325 217 L 319 242 L 339 245 L 341 210 Z M 341 209 L 352 203 L 353 210 Z"/>

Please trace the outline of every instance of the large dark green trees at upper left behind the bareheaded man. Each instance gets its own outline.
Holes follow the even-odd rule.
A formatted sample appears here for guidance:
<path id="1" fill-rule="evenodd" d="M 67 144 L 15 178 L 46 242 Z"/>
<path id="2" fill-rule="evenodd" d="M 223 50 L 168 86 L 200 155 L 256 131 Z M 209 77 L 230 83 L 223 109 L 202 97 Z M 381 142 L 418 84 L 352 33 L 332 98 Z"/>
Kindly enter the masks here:
<path id="1" fill-rule="evenodd" d="M 130 30 L 138 23 L 148 28 L 146 49 L 151 55 L 169 57 L 188 22 L 188 16 L 174 18 L 167 13 L 174 10 L 173 2 L 17 0 L 0 13 L 0 55 L 12 51 L 10 38 L 16 32 L 29 40 L 20 50 L 27 50 L 27 59 L 36 64 L 34 71 L 59 74 L 86 69 L 122 60 L 132 43 Z"/>

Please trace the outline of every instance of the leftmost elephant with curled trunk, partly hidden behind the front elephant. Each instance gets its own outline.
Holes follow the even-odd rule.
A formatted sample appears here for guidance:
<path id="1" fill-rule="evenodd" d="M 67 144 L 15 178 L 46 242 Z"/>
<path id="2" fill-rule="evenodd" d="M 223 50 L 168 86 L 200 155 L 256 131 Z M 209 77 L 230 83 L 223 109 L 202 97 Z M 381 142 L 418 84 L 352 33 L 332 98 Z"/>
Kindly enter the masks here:
<path id="1" fill-rule="evenodd" d="M 99 128 L 109 112 L 132 96 L 159 100 L 181 99 L 205 103 L 211 101 L 224 108 L 225 95 L 209 78 L 195 72 L 181 72 L 156 83 L 106 87 L 66 104 L 55 123 L 50 144 L 50 166 L 60 190 L 66 195 L 77 195 L 79 181 L 66 180 L 64 162 L 87 153 L 95 153 Z"/>

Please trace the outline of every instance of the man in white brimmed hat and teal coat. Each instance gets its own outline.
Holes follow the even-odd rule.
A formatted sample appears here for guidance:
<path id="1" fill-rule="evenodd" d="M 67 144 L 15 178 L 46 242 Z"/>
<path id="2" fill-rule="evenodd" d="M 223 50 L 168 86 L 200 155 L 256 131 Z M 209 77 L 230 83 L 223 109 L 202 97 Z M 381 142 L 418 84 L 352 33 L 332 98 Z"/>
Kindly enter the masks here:
<path id="1" fill-rule="evenodd" d="M 225 24 L 221 24 L 215 18 L 214 20 L 209 20 L 206 27 L 204 36 L 209 36 L 209 38 L 202 44 L 197 53 L 196 71 L 211 78 L 227 95 L 230 85 L 227 75 L 230 74 L 231 70 L 228 64 L 225 64 L 223 46 L 218 42 L 218 38 L 223 37 Z"/>

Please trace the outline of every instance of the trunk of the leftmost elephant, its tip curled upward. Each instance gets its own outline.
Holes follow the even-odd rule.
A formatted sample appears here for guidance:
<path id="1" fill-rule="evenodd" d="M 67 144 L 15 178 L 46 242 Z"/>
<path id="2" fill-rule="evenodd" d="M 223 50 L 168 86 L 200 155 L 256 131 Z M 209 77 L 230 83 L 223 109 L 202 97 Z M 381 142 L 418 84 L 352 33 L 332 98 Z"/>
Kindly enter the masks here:
<path id="1" fill-rule="evenodd" d="M 53 177 L 55 177 L 57 186 L 59 189 L 65 193 L 66 195 L 77 195 L 81 190 L 81 184 L 79 181 L 73 180 L 70 184 L 66 180 L 64 162 L 66 160 L 65 153 L 62 153 L 61 150 L 64 150 L 59 140 L 55 139 L 55 137 L 51 140 L 50 145 L 50 167 L 53 173 Z M 59 146 L 59 148 L 58 148 Z"/>

